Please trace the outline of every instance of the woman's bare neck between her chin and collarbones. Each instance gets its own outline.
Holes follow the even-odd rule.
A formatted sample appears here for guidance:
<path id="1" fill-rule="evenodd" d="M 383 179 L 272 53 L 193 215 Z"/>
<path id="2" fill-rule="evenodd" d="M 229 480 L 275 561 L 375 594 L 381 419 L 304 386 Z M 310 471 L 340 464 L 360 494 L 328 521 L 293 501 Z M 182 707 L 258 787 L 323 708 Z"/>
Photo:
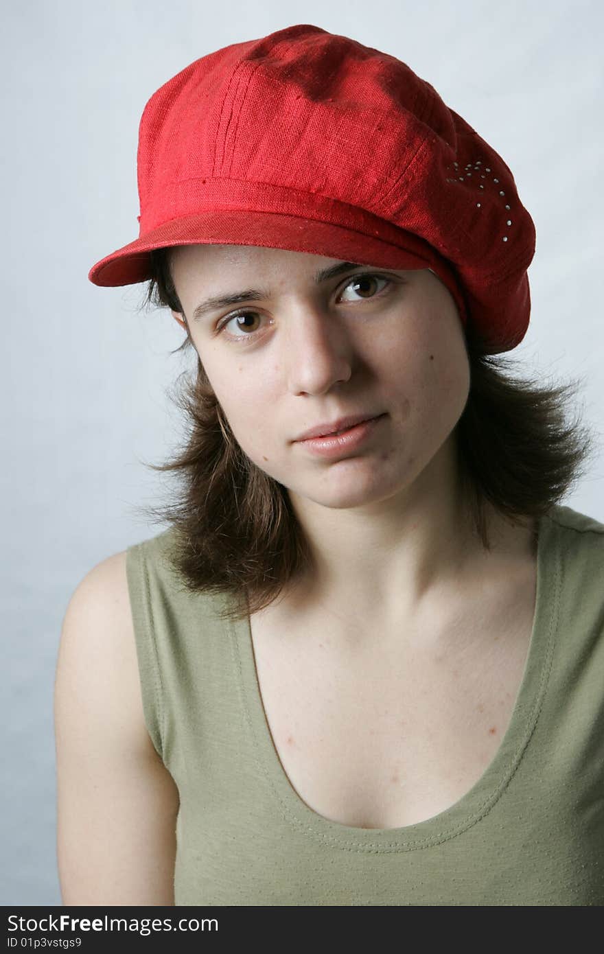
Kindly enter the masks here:
<path id="1" fill-rule="evenodd" d="M 444 459 L 444 460 L 443 460 Z M 295 612 L 322 607 L 364 626 L 417 619 L 450 606 L 534 557 L 533 521 L 512 523 L 485 504 L 490 550 L 470 516 L 454 474 L 454 454 L 432 462 L 405 494 L 362 507 L 325 508 L 290 492 L 312 553 L 296 581 Z"/>

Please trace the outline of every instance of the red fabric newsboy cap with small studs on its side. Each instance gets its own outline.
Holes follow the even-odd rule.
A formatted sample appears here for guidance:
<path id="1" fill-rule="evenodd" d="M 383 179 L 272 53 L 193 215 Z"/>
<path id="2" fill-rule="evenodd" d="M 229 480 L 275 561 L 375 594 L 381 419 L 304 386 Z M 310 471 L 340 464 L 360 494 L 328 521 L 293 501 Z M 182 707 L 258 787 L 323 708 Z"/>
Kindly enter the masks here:
<path id="1" fill-rule="evenodd" d="M 260 245 L 431 268 L 490 353 L 522 341 L 534 226 L 510 169 L 405 63 L 308 24 L 202 56 L 148 101 L 138 239 L 97 285 L 152 276 L 152 249 Z"/>

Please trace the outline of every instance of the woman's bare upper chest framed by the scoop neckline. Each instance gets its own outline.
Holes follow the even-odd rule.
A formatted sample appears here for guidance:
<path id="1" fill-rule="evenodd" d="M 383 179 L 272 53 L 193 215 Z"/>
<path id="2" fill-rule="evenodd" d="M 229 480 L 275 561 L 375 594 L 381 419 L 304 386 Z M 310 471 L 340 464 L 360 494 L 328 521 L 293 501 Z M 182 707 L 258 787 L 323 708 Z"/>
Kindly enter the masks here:
<path id="1" fill-rule="evenodd" d="M 534 580 L 438 633 L 348 637 L 251 619 L 260 695 L 283 771 L 323 818 L 398 828 L 462 798 L 510 723 L 531 640 Z M 503 612 L 505 609 L 506 612 Z"/>

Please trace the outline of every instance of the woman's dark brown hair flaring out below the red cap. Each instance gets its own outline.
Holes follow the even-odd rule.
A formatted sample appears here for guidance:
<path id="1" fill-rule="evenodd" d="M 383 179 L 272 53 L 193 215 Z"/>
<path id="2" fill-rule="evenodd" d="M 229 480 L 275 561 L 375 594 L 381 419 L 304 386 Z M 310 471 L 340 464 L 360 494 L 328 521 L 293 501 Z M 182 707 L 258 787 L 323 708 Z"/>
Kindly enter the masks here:
<path id="1" fill-rule="evenodd" d="M 184 318 L 169 253 L 151 253 L 143 305 Z M 186 319 L 185 327 L 177 351 L 194 348 Z M 512 521 L 538 518 L 583 476 L 594 434 L 565 419 L 577 382 L 545 387 L 513 378 L 504 373 L 510 359 L 489 354 L 471 322 L 465 334 L 470 385 L 455 427 L 457 456 L 474 529 L 489 550 L 485 501 Z M 146 465 L 176 472 L 183 486 L 165 505 L 140 509 L 175 529 L 170 559 L 184 587 L 227 591 L 221 616 L 236 620 L 277 599 L 309 568 L 311 553 L 286 489 L 240 449 L 199 357 L 197 364 L 196 379 L 185 378 L 172 399 L 188 422 L 185 444 L 167 463 Z"/>

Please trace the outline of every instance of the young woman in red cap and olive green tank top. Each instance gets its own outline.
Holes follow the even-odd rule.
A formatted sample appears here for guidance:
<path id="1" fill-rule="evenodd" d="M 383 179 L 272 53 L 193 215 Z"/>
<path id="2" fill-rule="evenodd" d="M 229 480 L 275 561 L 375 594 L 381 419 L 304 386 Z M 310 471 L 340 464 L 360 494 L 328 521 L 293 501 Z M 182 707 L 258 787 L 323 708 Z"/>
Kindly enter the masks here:
<path id="1" fill-rule="evenodd" d="M 67 904 L 604 902 L 604 525 L 513 177 L 404 63 L 297 25 L 141 119 L 197 378 L 170 527 L 94 567 L 56 690 Z"/>

